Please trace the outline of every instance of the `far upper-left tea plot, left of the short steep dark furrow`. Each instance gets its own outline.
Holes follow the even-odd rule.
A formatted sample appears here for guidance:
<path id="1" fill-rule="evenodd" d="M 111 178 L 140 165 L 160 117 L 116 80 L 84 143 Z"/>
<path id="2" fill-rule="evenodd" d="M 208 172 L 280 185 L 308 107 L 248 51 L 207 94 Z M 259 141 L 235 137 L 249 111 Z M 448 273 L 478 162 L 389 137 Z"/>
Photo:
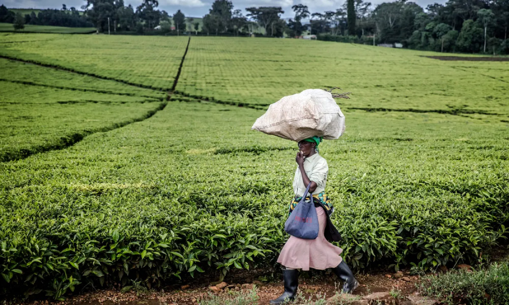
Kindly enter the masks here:
<path id="1" fill-rule="evenodd" d="M 187 37 L 12 36 L 0 36 L 0 42 L 7 42 L 0 55 L 165 91 L 173 85 L 187 45 Z"/>

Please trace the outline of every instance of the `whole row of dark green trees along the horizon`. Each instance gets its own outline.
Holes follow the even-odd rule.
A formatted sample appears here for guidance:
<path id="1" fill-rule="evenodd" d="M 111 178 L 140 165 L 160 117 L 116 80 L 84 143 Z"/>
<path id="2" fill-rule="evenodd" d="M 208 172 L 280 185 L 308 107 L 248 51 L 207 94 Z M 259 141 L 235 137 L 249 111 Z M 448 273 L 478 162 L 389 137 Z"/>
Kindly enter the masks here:
<path id="1" fill-rule="evenodd" d="M 302 4 L 294 17 L 281 18 L 281 7 L 248 7 L 244 16 L 231 1 L 215 0 L 202 22 L 178 10 L 170 16 L 158 10 L 157 0 L 143 0 L 135 9 L 124 0 L 87 0 L 82 15 L 74 8 L 43 10 L 24 16 L 30 24 L 96 27 L 98 33 L 194 34 L 268 37 L 317 35 L 318 39 L 393 44 L 419 50 L 469 53 L 509 53 L 509 0 L 448 0 L 426 9 L 408 0 L 374 6 L 346 0 L 335 10 L 310 13 Z M 3 6 L 2 6 L 3 7 Z M 13 22 L 12 12 L 0 7 L 0 22 Z M 4 21 L 2 21 L 4 20 Z M 305 22 L 304 22 L 305 21 Z"/>

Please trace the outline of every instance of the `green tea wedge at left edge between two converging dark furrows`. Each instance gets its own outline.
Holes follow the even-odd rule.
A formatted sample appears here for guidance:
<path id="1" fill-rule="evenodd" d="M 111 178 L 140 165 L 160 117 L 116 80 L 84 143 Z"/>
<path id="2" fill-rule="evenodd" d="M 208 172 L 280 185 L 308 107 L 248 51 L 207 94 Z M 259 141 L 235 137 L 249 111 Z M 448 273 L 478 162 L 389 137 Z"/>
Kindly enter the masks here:
<path id="1" fill-rule="evenodd" d="M 152 115 L 164 93 L 0 58 L 0 161 L 58 149 Z"/>

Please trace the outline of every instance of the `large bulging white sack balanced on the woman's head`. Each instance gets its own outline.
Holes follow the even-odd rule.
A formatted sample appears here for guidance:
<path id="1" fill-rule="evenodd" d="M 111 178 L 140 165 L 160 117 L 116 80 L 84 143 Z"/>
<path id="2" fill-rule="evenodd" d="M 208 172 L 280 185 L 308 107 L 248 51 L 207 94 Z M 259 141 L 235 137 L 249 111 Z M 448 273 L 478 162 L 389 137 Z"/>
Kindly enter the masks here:
<path id="1" fill-rule="evenodd" d="M 271 104 L 251 129 L 293 141 L 313 136 L 330 140 L 345 131 L 345 116 L 329 92 L 307 89 Z"/>

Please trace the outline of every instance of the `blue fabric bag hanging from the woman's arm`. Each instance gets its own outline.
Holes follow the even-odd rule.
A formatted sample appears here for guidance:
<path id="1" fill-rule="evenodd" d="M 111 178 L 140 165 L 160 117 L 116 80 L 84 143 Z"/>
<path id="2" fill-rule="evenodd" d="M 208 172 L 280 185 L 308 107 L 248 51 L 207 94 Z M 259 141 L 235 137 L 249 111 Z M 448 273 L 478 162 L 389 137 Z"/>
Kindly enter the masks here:
<path id="1" fill-rule="evenodd" d="M 285 222 L 285 231 L 295 237 L 303 239 L 316 239 L 318 237 L 318 216 L 313 202 L 313 194 L 309 193 L 311 200 L 306 201 L 311 182 L 307 185 L 302 199 L 297 203 L 292 214 Z"/>

